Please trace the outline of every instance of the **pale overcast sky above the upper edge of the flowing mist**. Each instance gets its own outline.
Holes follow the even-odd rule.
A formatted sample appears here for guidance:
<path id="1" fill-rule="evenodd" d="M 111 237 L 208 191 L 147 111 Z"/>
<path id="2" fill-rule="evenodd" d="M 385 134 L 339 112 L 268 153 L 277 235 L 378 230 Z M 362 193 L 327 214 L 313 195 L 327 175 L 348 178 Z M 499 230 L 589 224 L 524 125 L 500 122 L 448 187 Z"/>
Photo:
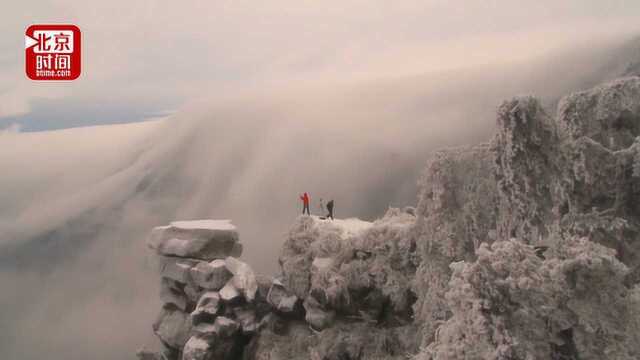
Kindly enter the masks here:
<path id="1" fill-rule="evenodd" d="M 638 14 L 634 0 L 11 1 L 0 127 L 140 121 L 199 98 L 508 63 L 629 33 Z M 82 30 L 78 80 L 26 78 L 24 31 L 47 22 Z"/>

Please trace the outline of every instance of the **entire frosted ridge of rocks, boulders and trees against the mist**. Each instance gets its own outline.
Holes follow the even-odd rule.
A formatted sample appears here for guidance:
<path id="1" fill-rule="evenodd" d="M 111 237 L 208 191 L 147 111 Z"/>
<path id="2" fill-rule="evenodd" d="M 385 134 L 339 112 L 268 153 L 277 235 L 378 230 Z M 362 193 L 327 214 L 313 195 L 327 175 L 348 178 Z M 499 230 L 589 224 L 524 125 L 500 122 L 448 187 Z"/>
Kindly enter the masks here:
<path id="1" fill-rule="evenodd" d="M 555 115 L 505 101 L 489 143 L 433 154 L 415 209 L 298 218 L 276 278 L 235 229 L 157 228 L 163 356 L 638 359 L 639 136 L 638 77 Z"/>

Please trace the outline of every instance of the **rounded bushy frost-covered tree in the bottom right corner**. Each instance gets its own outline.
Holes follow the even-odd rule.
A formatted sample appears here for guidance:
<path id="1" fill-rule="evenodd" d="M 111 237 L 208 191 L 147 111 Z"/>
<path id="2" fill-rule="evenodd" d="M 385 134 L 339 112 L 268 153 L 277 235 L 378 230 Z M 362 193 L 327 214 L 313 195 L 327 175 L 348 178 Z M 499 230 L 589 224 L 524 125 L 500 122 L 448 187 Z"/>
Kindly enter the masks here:
<path id="1" fill-rule="evenodd" d="M 638 290 L 612 250 L 571 239 L 542 260 L 516 240 L 452 264 L 452 317 L 418 359 L 636 359 Z"/>

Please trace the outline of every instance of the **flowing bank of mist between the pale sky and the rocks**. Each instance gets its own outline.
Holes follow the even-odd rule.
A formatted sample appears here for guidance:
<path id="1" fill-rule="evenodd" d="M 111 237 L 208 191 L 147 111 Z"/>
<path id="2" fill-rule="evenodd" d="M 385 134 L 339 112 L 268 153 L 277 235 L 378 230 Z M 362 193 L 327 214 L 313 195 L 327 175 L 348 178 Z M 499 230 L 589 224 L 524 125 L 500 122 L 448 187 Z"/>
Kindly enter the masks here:
<path id="1" fill-rule="evenodd" d="M 583 44 L 583 45 L 580 45 Z M 588 45 L 588 46 L 587 46 Z M 337 217 L 415 203 L 429 153 L 491 137 L 500 102 L 557 99 L 624 73 L 637 42 L 366 81 L 212 96 L 165 119 L 0 133 L 4 359 L 124 359 L 153 345 L 160 304 L 144 242 L 172 220 L 232 219 L 242 259 L 277 268 L 298 195 Z"/>

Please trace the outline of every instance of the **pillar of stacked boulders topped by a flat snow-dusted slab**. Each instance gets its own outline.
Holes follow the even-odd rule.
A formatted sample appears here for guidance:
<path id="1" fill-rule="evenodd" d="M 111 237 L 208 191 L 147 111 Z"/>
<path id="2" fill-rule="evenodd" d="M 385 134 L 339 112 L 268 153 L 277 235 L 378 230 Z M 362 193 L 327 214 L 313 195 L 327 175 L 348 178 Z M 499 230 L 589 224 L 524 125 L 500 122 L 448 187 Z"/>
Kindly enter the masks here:
<path id="1" fill-rule="evenodd" d="M 237 359 L 258 329 L 264 311 L 257 303 L 251 267 L 235 256 L 241 249 L 230 221 L 179 221 L 153 229 L 164 305 L 153 330 L 162 352 L 140 351 L 140 359 Z M 270 286 L 270 284 L 269 284 Z"/>

